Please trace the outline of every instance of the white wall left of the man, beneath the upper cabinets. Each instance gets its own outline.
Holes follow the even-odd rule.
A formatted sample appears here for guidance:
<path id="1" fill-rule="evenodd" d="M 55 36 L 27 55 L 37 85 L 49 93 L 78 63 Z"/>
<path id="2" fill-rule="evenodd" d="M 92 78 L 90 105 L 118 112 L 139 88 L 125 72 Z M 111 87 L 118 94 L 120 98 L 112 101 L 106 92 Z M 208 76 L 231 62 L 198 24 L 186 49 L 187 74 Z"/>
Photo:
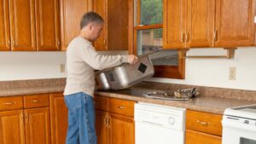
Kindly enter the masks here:
<path id="1" fill-rule="evenodd" d="M 0 81 L 65 78 L 65 52 L 0 52 Z"/>

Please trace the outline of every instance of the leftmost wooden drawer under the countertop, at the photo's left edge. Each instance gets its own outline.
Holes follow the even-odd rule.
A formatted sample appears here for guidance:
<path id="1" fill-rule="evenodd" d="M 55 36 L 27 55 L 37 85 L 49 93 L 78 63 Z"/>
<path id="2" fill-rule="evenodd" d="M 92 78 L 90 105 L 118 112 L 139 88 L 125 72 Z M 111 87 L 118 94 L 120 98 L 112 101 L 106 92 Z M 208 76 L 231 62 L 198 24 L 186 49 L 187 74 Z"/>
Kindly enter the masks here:
<path id="1" fill-rule="evenodd" d="M 23 108 L 22 96 L 0 97 L 0 111 L 9 111 Z"/>

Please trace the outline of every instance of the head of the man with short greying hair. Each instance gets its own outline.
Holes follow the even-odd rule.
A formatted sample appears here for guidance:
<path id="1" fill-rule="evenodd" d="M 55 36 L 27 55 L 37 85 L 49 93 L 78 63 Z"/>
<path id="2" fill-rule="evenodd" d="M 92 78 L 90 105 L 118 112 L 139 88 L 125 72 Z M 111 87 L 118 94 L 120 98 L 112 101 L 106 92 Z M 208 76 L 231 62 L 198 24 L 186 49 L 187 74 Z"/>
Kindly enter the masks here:
<path id="1" fill-rule="evenodd" d="M 84 14 L 80 22 L 81 35 L 90 42 L 96 41 L 102 32 L 103 21 L 102 16 L 95 12 Z"/>

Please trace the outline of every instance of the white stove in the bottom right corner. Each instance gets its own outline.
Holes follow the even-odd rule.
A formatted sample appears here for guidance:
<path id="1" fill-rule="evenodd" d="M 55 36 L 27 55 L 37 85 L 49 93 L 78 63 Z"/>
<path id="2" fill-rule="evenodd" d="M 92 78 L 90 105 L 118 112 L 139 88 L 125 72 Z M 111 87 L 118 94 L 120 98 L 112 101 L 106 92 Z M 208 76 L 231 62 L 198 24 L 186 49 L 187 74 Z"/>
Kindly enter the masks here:
<path id="1" fill-rule="evenodd" d="M 256 144 L 256 104 L 224 111 L 222 144 Z"/>

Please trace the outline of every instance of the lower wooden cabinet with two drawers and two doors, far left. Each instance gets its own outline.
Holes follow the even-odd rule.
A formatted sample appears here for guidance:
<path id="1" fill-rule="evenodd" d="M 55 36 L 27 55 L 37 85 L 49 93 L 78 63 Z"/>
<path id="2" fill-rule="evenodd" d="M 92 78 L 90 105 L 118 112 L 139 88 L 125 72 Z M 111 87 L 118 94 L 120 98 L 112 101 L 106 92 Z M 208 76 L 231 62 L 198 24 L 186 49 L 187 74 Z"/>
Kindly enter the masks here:
<path id="1" fill-rule="evenodd" d="M 1 144 L 50 144 L 49 95 L 1 97 L 0 125 Z"/>

